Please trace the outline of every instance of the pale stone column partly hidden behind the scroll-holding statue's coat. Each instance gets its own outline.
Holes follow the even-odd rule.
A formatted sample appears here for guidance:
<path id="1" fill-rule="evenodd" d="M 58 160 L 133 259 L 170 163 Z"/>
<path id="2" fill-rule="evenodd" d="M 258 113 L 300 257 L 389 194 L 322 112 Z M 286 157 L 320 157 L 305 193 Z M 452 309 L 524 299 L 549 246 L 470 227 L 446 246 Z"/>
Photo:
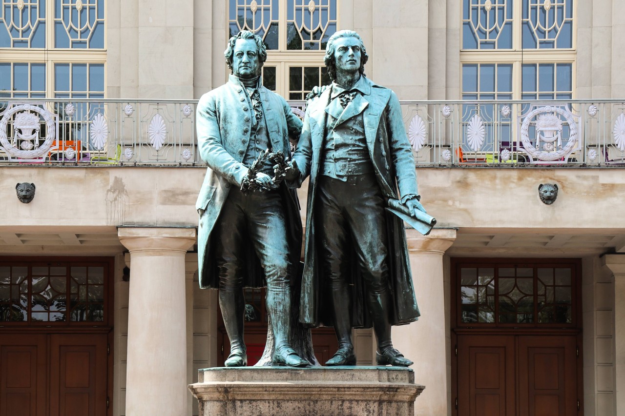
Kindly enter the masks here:
<path id="1" fill-rule="evenodd" d="M 433 229 L 424 236 L 411 229 L 406 230 L 406 235 L 421 317 L 412 324 L 393 327 L 392 340 L 399 351 L 414 361 L 415 382 L 426 386 L 414 405 L 414 414 L 444 416 L 451 410 L 451 360 L 447 347 L 449 279 L 444 279 L 442 260 L 456 239 L 456 230 Z"/>

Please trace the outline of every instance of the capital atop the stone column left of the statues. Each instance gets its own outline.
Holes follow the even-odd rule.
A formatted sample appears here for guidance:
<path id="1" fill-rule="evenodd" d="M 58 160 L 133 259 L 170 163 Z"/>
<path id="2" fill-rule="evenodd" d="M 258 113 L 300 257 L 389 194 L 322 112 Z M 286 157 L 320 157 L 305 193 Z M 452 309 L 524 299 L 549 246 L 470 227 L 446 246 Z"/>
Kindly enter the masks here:
<path id="1" fill-rule="evenodd" d="M 131 254 L 142 251 L 186 252 L 196 242 L 195 228 L 181 227 L 119 227 L 121 244 Z"/>

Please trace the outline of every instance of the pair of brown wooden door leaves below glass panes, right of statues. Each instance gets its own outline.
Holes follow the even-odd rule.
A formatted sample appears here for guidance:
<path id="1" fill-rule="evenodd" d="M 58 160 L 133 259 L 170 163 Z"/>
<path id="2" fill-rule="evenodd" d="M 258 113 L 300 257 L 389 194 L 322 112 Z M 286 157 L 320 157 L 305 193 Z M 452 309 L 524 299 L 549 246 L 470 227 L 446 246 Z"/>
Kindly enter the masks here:
<path id="1" fill-rule="evenodd" d="M 458 335 L 459 416 L 577 415 L 575 335 Z"/>

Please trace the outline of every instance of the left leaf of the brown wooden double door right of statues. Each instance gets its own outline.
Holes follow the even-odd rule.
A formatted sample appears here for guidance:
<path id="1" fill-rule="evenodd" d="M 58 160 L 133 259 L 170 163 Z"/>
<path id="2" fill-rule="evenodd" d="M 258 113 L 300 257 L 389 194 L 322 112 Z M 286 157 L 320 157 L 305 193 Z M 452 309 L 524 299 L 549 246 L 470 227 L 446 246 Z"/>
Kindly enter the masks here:
<path id="1" fill-rule="evenodd" d="M 458 337 L 458 414 L 514 415 L 514 337 Z"/>

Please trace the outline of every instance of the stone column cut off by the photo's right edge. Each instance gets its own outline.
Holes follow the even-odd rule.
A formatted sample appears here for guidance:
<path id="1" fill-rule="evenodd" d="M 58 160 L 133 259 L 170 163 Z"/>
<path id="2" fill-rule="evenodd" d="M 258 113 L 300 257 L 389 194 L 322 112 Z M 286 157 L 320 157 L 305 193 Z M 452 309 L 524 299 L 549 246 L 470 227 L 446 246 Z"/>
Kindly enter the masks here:
<path id="1" fill-rule="evenodd" d="M 602 264 L 614 274 L 614 414 L 625 414 L 625 254 L 606 254 Z"/>

